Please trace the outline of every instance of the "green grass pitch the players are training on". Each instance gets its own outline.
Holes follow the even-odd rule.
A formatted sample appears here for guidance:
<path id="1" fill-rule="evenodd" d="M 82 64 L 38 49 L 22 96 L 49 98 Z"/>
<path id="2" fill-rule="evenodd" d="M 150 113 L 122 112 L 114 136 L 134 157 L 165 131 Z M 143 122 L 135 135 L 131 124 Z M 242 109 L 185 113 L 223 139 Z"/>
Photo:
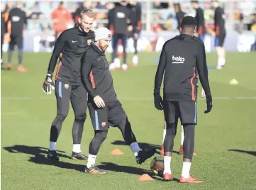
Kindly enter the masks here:
<path id="1" fill-rule="evenodd" d="M 162 143 L 163 113 L 153 104 L 154 77 L 160 53 L 140 53 L 140 65 L 127 72 L 113 72 L 118 98 L 128 114 L 141 147 Z M 131 61 L 128 56 L 128 61 Z M 108 55 L 108 58 L 110 56 Z M 120 131 L 111 128 L 96 162 L 108 174 L 85 174 L 86 161 L 71 160 L 74 113 L 62 125 L 57 152 L 60 162 L 48 162 L 50 125 L 56 114 L 55 95 L 42 91 L 50 54 L 26 53 L 28 73 L 1 70 L 1 187 L 2 189 L 256 189 L 256 54 L 227 54 L 225 69 L 218 71 L 216 54 L 207 54 L 211 71 L 213 110 L 204 114 L 205 99 L 199 98 L 195 152 L 191 174 L 204 184 L 179 184 L 182 155 L 178 155 L 180 128 L 172 156 L 174 181 L 162 181 L 150 170 L 150 160 L 136 164 Z M 6 61 L 6 55 L 4 56 Z M 238 85 L 230 85 L 231 79 Z M 201 94 L 201 87 L 199 88 Z M 89 114 L 88 114 L 89 116 Z M 87 155 L 94 131 L 88 118 L 84 124 L 82 151 Z M 110 155 L 118 148 L 126 155 Z M 157 154 L 156 154 L 157 155 Z M 155 155 L 155 156 L 156 156 Z M 154 181 L 137 181 L 141 174 Z"/>

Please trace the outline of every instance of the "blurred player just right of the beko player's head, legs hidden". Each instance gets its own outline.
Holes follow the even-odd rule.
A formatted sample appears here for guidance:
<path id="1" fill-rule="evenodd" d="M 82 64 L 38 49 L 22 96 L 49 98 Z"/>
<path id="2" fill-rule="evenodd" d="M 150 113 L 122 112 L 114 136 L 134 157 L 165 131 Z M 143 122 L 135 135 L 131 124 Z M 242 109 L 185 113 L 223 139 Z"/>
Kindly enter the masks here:
<path id="1" fill-rule="evenodd" d="M 204 10 L 199 7 L 199 1 L 191 1 L 191 5 L 196 10 L 196 37 L 204 41 L 204 35 L 206 34 Z"/>

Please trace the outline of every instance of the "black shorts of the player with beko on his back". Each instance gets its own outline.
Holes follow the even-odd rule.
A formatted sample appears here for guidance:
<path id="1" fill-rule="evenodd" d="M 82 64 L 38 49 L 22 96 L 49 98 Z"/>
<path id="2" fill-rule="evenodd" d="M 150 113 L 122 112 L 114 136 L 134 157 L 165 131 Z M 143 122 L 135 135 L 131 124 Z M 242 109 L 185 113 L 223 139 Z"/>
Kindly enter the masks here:
<path id="1" fill-rule="evenodd" d="M 183 124 L 197 123 L 197 105 L 196 101 L 164 101 L 165 121 L 175 123 L 180 118 Z"/>

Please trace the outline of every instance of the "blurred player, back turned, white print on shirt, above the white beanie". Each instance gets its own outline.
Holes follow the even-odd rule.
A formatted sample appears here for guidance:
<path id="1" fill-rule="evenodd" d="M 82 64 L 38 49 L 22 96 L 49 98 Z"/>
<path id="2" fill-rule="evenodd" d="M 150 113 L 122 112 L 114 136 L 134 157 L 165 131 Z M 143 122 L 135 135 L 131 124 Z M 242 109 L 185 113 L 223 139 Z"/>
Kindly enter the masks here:
<path id="1" fill-rule="evenodd" d="M 123 45 L 123 71 L 128 69 L 127 66 L 127 53 L 126 53 L 126 40 L 127 29 L 130 23 L 130 9 L 127 7 L 127 1 L 119 1 L 114 9 L 108 12 L 108 29 L 113 33 L 113 52 L 112 63 L 109 65 L 109 69 L 114 70 L 121 67 L 121 62 L 117 54 L 118 40 L 122 40 Z"/>

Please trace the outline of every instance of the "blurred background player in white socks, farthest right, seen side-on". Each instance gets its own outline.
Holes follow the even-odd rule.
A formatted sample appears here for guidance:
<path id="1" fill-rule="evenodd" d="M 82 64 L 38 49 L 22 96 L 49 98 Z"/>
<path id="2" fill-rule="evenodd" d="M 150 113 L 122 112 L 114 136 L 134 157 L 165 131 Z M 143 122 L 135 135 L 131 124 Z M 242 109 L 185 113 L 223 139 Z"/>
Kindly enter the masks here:
<path id="1" fill-rule="evenodd" d="M 211 5 L 215 9 L 215 13 L 214 31 L 210 30 L 210 33 L 215 35 L 215 47 L 218 55 L 217 69 L 222 69 L 226 64 L 226 50 L 223 47 L 226 38 L 225 13 L 217 0 L 211 1 Z"/>

